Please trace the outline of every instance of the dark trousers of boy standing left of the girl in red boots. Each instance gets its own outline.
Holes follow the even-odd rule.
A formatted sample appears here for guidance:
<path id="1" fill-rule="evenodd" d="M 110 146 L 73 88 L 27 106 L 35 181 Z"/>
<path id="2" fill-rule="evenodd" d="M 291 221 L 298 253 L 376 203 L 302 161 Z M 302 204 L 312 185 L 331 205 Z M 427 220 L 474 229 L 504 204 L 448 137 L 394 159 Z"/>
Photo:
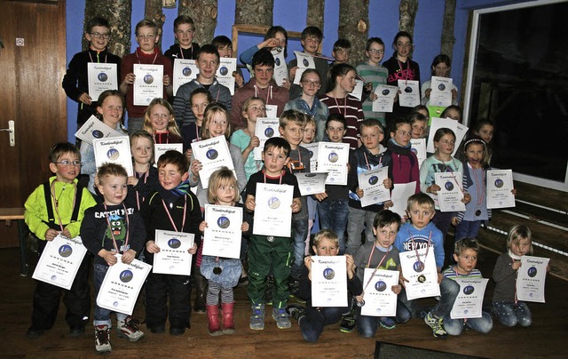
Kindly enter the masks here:
<path id="1" fill-rule="evenodd" d="M 146 326 L 164 325 L 170 317 L 170 327 L 191 328 L 192 287 L 189 275 L 161 275 L 150 273 L 146 281 Z M 168 313 L 170 297 L 170 313 Z"/>

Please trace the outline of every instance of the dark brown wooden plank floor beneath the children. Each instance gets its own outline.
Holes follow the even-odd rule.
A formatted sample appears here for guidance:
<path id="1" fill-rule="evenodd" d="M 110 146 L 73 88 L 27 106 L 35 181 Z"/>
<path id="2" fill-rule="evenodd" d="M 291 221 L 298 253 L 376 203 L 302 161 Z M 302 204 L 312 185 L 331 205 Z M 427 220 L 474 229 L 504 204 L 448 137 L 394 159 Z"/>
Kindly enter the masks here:
<path id="1" fill-rule="evenodd" d="M 481 253 L 478 267 L 490 276 L 497 255 L 493 251 Z M 26 330 L 31 317 L 32 293 L 35 283 L 30 277 L 19 275 L 18 249 L 0 250 L 0 270 L 4 273 L 0 285 L 0 356 L 14 357 L 94 357 L 92 327 L 81 338 L 70 338 L 64 320 L 65 308 L 61 305 L 55 327 L 38 339 L 28 339 Z M 30 273 L 33 267 L 30 268 Z M 264 331 L 248 329 L 249 308 L 244 288 L 236 290 L 236 328 L 232 336 L 210 337 L 205 315 L 193 315 L 192 329 L 181 337 L 169 334 L 154 335 L 146 331 L 146 338 L 138 343 L 118 339 L 111 334 L 112 355 L 122 357 L 372 357 L 375 340 L 412 347 L 422 347 L 463 355 L 489 358 L 504 357 L 568 357 L 565 345 L 568 326 L 568 306 L 564 295 L 566 282 L 548 276 L 546 304 L 531 303 L 533 326 L 505 328 L 495 323 L 487 335 L 466 332 L 460 337 L 446 340 L 432 337 L 420 319 L 400 324 L 394 330 L 377 331 L 375 339 L 361 339 L 357 333 L 339 331 L 339 324 L 326 328 L 318 343 L 305 343 L 299 328 L 293 323 L 289 330 L 278 330 L 272 318 L 266 319 Z M 491 298 L 493 283 L 488 285 L 485 299 Z M 487 300 L 486 300 L 487 301 Z M 430 302 L 431 303 L 431 302 Z M 270 308 L 270 307 L 269 307 Z M 138 306 L 135 315 L 142 318 L 143 308 Z M 144 327 L 146 330 L 146 327 Z"/>

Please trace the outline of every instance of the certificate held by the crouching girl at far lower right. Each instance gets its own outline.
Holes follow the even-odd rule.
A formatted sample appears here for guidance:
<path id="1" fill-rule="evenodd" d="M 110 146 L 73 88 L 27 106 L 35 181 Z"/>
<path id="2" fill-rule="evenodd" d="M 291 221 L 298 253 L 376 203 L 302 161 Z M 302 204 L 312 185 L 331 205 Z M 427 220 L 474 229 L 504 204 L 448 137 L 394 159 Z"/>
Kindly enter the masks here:
<path id="1" fill-rule="evenodd" d="M 521 257 L 517 269 L 517 299 L 544 303 L 544 282 L 547 275 L 548 258 Z"/>

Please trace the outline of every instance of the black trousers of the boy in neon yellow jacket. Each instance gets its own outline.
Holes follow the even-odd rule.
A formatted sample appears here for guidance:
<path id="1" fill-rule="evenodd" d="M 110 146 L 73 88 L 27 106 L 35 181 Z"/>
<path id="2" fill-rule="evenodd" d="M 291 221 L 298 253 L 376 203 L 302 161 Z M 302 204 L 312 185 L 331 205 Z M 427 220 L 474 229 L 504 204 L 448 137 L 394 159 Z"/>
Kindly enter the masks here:
<path id="1" fill-rule="evenodd" d="M 41 256 L 46 242 L 39 241 L 38 254 Z M 89 259 L 87 253 L 77 271 L 70 290 L 56 285 L 36 281 L 34 291 L 34 311 L 32 313 L 32 328 L 51 329 L 59 310 L 59 300 L 63 294 L 63 303 L 67 308 L 65 320 L 69 327 L 84 327 L 89 322 L 91 314 L 91 288 L 89 287 Z"/>

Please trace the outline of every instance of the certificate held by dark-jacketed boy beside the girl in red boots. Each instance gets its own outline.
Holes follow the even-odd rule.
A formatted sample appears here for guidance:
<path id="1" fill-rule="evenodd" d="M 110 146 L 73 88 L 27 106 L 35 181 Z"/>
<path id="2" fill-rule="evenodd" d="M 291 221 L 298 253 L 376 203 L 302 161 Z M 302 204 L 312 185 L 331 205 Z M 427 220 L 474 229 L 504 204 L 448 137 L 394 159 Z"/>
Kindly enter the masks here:
<path id="1" fill-rule="evenodd" d="M 191 275 L 193 233 L 156 229 L 154 242 L 160 251 L 154 254 L 154 273 L 164 275 Z"/>

